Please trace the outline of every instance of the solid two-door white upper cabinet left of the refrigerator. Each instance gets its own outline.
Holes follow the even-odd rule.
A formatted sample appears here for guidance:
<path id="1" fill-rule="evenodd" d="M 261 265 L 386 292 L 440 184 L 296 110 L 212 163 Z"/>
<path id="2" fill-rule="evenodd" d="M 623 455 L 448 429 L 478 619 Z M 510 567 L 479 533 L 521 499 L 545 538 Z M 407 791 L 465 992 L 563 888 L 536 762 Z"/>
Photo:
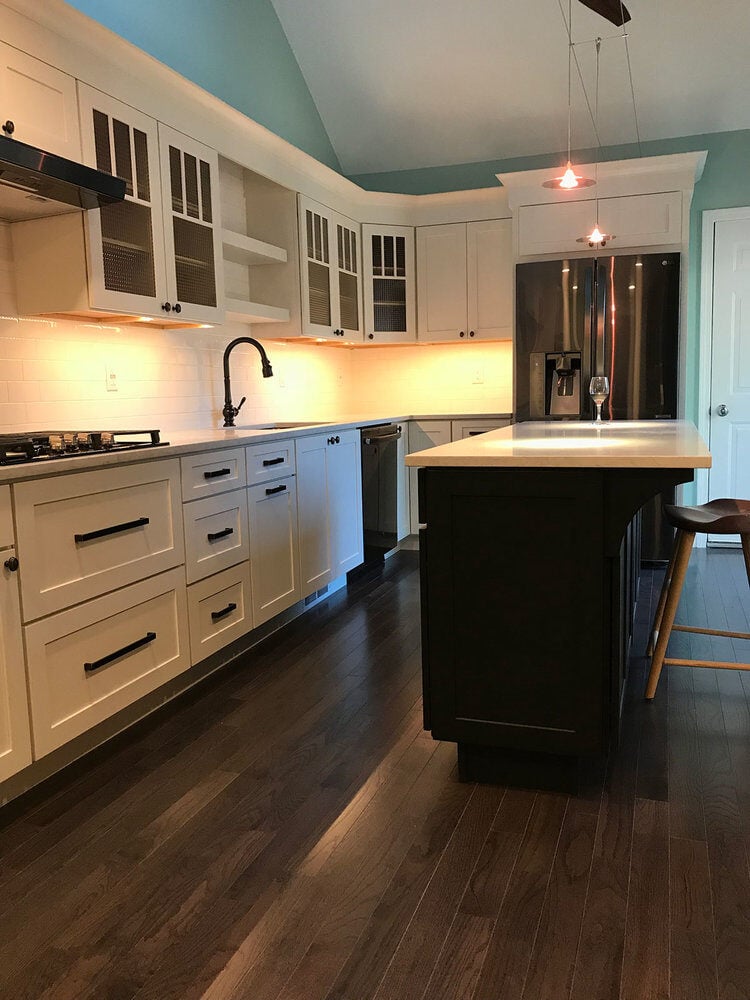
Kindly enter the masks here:
<path id="1" fill-rule="evenodd" d="M 510 219 L 419 227 L 419 339 L 510 339 L 512 277 Z"/>

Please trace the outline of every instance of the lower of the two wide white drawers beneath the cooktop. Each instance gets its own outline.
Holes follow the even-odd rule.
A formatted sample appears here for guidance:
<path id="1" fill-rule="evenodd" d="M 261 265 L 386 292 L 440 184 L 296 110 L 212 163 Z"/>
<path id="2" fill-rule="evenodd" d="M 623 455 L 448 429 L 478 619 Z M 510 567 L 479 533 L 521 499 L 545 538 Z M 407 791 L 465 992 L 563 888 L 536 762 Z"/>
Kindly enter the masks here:
<path id="1" fill-rule="evenodd" d="M 190 666 L 182 568 L 24 628 L 42 757 Z"/>

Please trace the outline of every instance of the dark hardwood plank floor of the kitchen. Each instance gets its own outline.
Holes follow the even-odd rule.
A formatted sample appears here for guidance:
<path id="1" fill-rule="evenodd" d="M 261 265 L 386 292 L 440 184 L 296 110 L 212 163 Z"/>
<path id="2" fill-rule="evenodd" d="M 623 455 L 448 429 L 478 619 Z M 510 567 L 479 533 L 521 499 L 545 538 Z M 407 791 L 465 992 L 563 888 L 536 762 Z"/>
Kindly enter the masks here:
<path id="1" fill-rule="evenodd" d="M 667 667 L 575 798 L 421 729 L 403 552 L 0 811 L 0 997 L 748 1000 L 750 674 Z M 680 609 L 750 631 L 738 552 Z M 750 643 L 672 649 L 750 659 Z"/>

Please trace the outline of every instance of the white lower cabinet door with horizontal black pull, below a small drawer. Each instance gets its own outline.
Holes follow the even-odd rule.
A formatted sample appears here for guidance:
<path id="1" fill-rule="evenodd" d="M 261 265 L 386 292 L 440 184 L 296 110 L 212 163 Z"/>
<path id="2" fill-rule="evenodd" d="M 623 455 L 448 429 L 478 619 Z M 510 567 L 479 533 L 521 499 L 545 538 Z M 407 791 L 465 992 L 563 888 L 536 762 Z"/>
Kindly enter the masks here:
<path id="1" fill-rule="evenodd" d="M 248 491 L 250 577 L 256 626 L 300 600 L 294 476 Z"/>

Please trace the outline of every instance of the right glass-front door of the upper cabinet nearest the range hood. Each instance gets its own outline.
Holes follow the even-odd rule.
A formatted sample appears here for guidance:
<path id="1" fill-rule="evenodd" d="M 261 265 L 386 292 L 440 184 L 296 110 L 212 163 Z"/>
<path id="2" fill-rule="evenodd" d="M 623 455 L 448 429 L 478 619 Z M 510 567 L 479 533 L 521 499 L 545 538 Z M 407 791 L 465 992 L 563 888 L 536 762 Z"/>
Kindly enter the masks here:
<path id="1" fill-rule="evenodd" d="M 223 319 L 219 219 L 219 158 L 194 139 L 159 124 L 167 265 L 167 303 L 181 318 Z"/>

